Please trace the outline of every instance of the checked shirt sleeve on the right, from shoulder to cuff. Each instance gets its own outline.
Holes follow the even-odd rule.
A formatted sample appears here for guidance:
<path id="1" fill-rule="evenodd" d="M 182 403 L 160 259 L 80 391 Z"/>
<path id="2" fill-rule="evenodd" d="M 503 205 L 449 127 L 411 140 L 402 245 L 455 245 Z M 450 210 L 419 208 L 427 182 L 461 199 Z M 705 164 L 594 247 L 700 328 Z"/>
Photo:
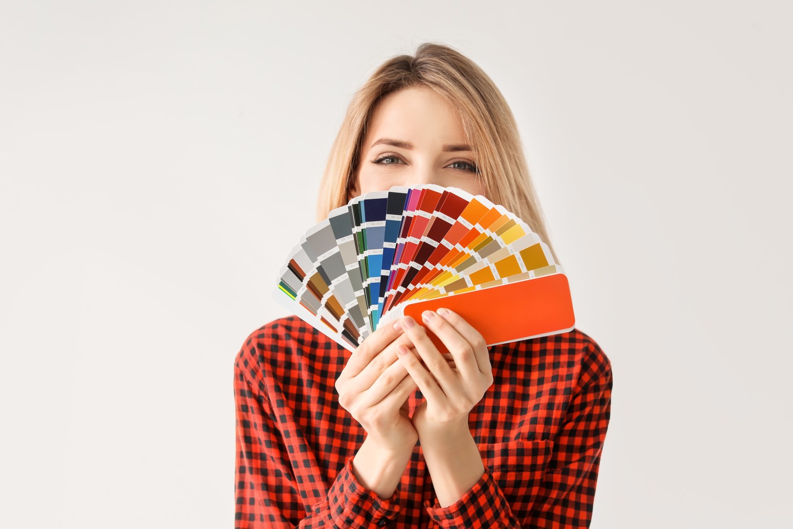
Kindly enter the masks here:
<path id="1" fill-rule="evenodd" d="M 589 527 L 600 454 L 611 416 L 611 363 L 589 343 L 577 393 L 554 439 L 554 454 L 536 489 L 526 519 L 516 519 L 487 467 L 457 503 L 424 502 L 439 527 Z"/>

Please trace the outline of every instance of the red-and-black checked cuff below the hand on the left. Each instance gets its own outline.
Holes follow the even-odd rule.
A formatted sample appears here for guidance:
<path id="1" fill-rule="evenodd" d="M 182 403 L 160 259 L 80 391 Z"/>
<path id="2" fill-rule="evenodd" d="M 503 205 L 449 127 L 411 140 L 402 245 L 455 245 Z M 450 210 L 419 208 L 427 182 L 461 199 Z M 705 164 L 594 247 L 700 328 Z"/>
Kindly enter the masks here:
<path id="1" fill-rule="evenodd" d="M 380 527 L 397 517 L 400 504 L 394 492 L 388 500 L 366 489 L 352 471 L 353 458 L 347 459 L 328 491 L 331 518 L 337 527 Z M 385 519 L 385 520 L 384 520 Z"/>

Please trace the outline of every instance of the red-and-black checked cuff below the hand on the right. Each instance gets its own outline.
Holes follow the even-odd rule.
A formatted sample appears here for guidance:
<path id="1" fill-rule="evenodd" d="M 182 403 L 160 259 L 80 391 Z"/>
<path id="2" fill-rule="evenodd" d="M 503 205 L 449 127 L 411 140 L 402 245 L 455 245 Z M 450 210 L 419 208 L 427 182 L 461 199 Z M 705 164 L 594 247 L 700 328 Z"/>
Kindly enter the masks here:
<path id="1" fill-rule="evenodd" d="M 457 503 L 441 507 L 435 498 L 432 503 L 424 500 L 424 508 L 439 527 L 508 527 L 512 519 L 509 504 L 487 466 Z"/>

